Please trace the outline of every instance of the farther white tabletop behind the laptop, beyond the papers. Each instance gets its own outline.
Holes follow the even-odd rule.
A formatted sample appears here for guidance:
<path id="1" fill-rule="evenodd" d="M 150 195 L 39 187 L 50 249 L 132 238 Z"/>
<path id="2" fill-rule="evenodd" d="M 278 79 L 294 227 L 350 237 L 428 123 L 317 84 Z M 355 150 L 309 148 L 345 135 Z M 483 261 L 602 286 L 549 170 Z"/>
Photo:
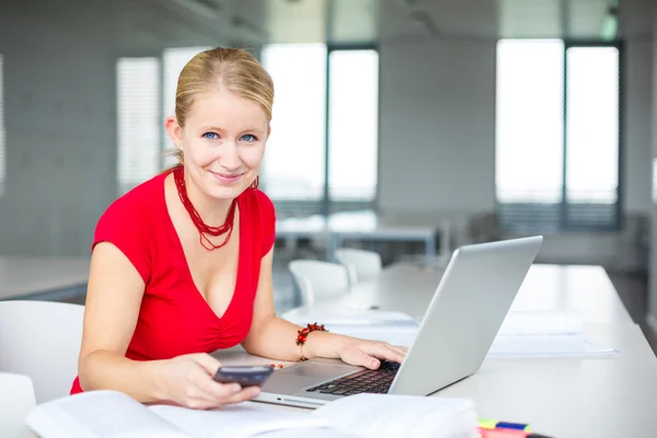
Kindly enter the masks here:
<path id="1" fill-rule="evenodd" d="M 312 309 L 298 308 L 285 315 L 326 313 L 338 309 L 394 310 L 422 316 L 442 276 L 442 268 L 395 264 L 373 281 L 356 285 L 341 299 L 318 299 Z M 609 276 L 600 266 L 534 264 L 511 310 L 579 311 L 587 323 L 632 323 Z"/>

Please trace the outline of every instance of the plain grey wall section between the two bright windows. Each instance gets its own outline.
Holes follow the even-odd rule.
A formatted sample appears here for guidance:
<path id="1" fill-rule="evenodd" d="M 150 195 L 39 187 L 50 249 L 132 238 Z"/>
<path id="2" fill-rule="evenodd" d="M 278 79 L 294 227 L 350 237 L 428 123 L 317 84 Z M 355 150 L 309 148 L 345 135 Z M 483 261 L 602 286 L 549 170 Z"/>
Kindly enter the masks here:
<path id="1" fill-rule="evenodd" d="M 495 43 L 380 46 L 381 210 L 486 211 L 495 201 Z"/>

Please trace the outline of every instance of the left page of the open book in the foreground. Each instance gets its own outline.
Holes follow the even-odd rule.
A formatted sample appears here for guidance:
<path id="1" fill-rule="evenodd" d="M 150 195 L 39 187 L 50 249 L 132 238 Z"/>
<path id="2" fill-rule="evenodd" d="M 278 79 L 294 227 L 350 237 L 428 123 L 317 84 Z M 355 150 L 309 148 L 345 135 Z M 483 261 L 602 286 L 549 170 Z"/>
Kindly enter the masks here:
<path id="1" fill-rule="evenodd" d="M 189 438 L 116 391 L 90 391 L 39 404 L 25 422 L 41 438 Z"/>

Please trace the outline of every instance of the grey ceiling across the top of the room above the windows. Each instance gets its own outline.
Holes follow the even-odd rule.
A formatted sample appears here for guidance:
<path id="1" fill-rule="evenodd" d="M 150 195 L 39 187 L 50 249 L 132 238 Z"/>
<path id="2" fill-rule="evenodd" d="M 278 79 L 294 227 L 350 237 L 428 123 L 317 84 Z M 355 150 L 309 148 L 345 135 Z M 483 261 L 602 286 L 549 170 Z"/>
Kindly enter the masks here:
<path id="1" fill-rule="evenodd" d="M 657 0 L 0 0 L 55 25 L 105 25 L 125 50 L 400 39 L 599 39 L 610 4 L 620 36 L 652 35 Z M 2 8 L 0 8 L 2 10 Z M 66 20 L 62 20 L 66 19 Z"/>

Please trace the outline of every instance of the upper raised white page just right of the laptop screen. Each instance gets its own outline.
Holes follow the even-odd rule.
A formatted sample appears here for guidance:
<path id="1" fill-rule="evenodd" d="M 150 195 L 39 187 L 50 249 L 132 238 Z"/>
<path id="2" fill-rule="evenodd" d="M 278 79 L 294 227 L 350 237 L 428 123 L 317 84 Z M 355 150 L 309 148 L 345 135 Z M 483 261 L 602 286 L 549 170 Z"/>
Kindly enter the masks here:
<path id="1" fill-rule="evenodd" d="M 576 311 L 511 311 L 498 335 L 570 335 L 581 334 L 584 318 Z"/>

